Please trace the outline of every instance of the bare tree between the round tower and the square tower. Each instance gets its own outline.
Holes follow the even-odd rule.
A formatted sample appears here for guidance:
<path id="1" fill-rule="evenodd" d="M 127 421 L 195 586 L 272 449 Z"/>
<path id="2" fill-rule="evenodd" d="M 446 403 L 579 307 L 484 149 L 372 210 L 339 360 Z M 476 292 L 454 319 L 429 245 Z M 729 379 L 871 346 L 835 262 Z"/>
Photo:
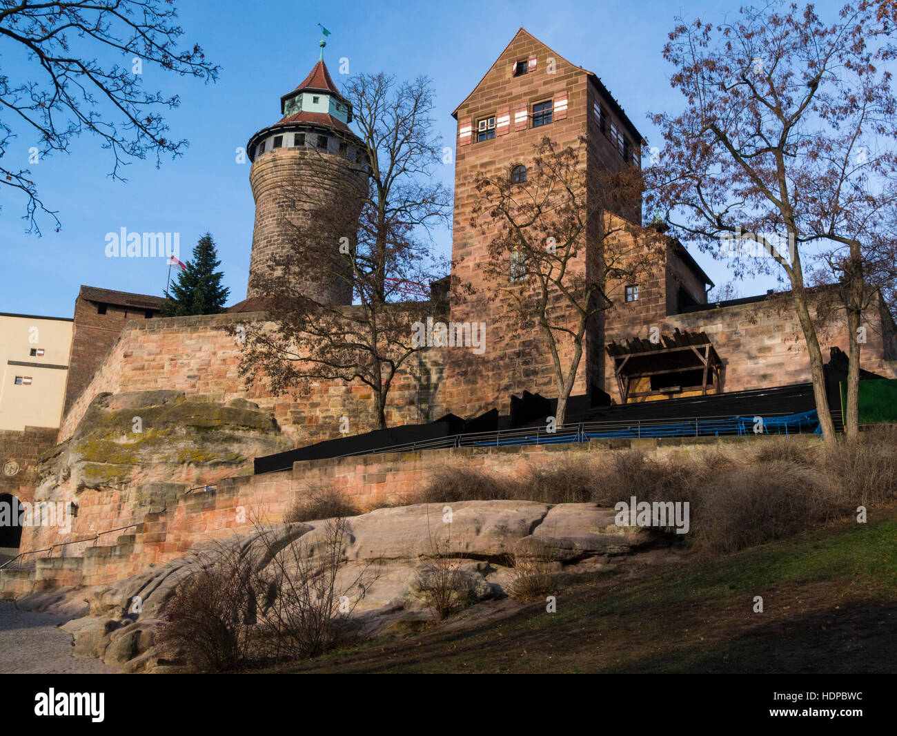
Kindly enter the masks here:
<path id="1" fill-rule="evenodd" d="M 267 294 L 271 325 L 246 328 L 240 370 L 275 393 L 316 380 L 361 381 L 384 428 L 396 373 L 421 348 L 414 320 L 434 308 L 421 302 L 430 302 L 429 285 L 446 270 L 432 255 L 431 233 L 450 223 L 451 192 L 432 179 L 442 153 L 429 80 L 361 74 L 345 96 L 366 148 L 356 168 L 367 183 L 322 198 L 317 182 L 344 177 L 335 167 L 345 164 L 327 155 L 309 160 L 309 175 L 287 193 L 303 213 L 284 223 L 290 248 L 274 258 L 271 273 L 253 276 L 253 287 Z M 343 285 L 353 305 L 309 295 L 309 269 L 320 282 Z"/>

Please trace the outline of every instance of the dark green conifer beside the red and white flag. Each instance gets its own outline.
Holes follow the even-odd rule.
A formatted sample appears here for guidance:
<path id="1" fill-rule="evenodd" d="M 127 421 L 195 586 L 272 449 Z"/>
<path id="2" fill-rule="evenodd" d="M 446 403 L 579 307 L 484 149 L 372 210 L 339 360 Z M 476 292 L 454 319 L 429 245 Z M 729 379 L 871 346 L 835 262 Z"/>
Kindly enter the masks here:
<path id="1" fill-rule="evenodd" d="M 165 317 L 185 317 L 191 314 L 217 314 L 224 311 L 231 290 L 222 286 L 222 271 L 212 233 L 206 232 L 193 249 L 187 268 L 179 271 L 171 284 L 170 293 L 162 304 Z"/>

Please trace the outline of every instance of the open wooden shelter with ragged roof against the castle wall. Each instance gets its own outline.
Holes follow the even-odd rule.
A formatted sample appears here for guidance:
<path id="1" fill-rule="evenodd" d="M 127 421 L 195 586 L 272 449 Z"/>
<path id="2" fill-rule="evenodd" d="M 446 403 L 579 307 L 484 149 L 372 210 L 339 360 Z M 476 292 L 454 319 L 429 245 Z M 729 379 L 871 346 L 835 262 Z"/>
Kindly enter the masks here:
<path id="1" fill-rule="evenodd" d="M 700 390 L 707 395 L 708 380 L 717 393 L 722 393 L 726 380 L 726 366 L 704 332 L 680 332 L 661 335 L 658 342 L 639 337 L 627 339 L 625 345 L 615 342 L 607 346 L 607 355 L 614 361 L 614 377 L 620 389 L 623 404 L 629 399 L 644 401 L 649 396 L 672 395 L 684 391 Z M 702 370 L 703 379 L 693 386 L 670 386 L 665 389 L 631 391 L 633 380 L 668 373 Z"/>

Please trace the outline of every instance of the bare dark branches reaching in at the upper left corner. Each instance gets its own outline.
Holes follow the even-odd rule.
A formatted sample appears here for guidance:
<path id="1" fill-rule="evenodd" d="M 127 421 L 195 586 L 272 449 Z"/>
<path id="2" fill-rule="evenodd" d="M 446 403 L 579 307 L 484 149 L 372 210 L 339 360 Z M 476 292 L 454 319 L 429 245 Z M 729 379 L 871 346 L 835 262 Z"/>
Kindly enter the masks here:
<path id="1" fill-rule="evenodd" d="M 183 152 L 187 141 L 170 139 L 158 112 L 178 107 L 178 95 L 144 91 L 143 77 L 135 73 L 145 64 L 206 81 L 217 78 L 219 67 L 205 60 L 202 48 L 179 48 L 184 31 L 177 17 L 170 0 L 0 0 L 0 52 L 30 63 L 24 78 L 0 74 L 0 184 L 25 196 L 28 232 L 39 234 L 39 212 L 53 219 L 57 231 L 59 220 L 39 198 L 30 170 L 4 161 L 14 137 L 35 140 L 36 161 L 67 152 L 74 137 L 91 132 L 111 152 L 110 175 L 118 180 L 124 180 L 119 167 L 128 159 L 154 153 L 158 166 L 163 154 Z M 123 66 L 100 62 L 100 54 L 120 55 Z"/>

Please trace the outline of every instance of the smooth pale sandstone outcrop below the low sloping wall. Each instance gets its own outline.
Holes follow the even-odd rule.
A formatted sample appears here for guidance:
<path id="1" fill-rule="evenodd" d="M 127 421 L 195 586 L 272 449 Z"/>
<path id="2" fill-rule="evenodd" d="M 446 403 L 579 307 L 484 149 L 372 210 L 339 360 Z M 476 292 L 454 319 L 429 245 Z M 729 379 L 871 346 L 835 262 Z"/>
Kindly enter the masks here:
<path id="1" fill-rule="evenodd" d="M 327 554 L 330 534 L 327 521 L 274 525 L 204 543 L 184 558 L 151 565 L 107 587 L 44 591 L 20 600 L 19 606 L 78 617 L 63 627 L 74 636 L 76 656 L 126 672 L 178 671 L 177 664 L 156 652 L 154 637 L 161 609 L 182 580 L 214 556 L 230 554 L 227 550 L 257 560 L 263 570 L 275 565 L 273 555 L 285 556 L 290 571 L 312 559 L 318 564 Z M 647 530 L 617 527 L 614 510 L 597 504 L 466 501 L 383 508 L 347 520 L 335 590 L 355 601 L 351 618 L 359 634 L 384 635 L 432 618 L 421 587 L 432 574 L 434 558 L 454 560 L 475 602 L 507 599 L 515 554 L 535 557 L 551 574 L 573 581 L 620 572 L 636 560 L 657 561 L 658 552 L 661 564 L 678 560 L 657 543 Z M 364 595 L 356 600 L 360 580 Z M 136 598 L 139 612 L 132 605 Z"/>

